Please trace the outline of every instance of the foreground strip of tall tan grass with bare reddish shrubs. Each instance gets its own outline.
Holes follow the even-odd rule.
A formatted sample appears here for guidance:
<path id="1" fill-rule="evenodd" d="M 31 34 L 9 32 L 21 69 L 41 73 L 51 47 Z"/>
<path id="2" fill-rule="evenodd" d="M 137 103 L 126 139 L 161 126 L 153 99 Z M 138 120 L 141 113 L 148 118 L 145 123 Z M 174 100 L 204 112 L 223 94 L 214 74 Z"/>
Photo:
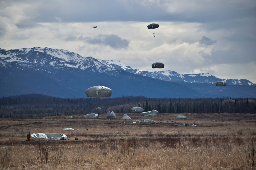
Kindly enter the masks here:
<path id="1" fill-rule="evenodd" d="M 250 139 L 250 140 L 248 140 Z M 1 145 L 6 169 L 255 169 L 255 136 L 34 141 Z"/>

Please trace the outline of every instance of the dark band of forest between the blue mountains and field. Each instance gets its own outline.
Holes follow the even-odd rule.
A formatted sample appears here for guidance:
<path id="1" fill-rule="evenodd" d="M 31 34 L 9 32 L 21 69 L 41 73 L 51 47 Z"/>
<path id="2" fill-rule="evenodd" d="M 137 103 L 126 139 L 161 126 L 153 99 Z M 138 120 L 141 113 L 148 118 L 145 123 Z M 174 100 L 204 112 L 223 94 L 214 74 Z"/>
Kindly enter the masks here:
<path id="1" fill-rule="evenodd" d="M 157 110 L 159 113 L 256 113 L 256 99 L 248 98 L 146 98 L 123 96 L 118 98 L 56 98 L 39 94 L 0 98 L 0 117 L 45 117 L 76 115 L 113 111 L 131 113 L 139 106 L 144 112 Z"/>

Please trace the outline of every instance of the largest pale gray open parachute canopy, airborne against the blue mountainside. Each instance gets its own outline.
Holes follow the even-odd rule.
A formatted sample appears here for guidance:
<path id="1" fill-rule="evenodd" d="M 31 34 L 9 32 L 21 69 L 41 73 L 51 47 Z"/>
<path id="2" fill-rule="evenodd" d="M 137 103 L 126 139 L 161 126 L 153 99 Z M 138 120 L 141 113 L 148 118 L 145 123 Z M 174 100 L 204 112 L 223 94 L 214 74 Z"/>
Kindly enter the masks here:
<path id="1" fill-rule="evenodd" d="M 105 86 L 93 86 L 85 90 L 87 97 L 110 97 L 112 90 Z"/>

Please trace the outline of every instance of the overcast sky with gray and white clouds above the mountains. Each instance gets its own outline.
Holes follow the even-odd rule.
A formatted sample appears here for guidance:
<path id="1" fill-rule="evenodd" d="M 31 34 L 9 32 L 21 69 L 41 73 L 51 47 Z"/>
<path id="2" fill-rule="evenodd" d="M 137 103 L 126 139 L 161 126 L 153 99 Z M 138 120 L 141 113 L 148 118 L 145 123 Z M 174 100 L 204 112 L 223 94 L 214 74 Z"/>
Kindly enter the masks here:
<path id="1" fill-rule="evenodd" d="M 0 0 L 0 48 L 27 47 L 256 83 L 256 1 Z"/>

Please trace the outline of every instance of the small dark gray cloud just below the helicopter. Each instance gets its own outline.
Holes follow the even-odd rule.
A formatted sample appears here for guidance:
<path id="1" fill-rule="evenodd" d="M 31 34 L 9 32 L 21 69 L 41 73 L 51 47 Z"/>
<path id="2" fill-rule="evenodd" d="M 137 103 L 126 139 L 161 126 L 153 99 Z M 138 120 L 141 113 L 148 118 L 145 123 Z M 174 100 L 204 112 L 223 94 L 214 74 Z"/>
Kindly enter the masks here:
<path id="1" fill-rule="evenodd" d="M 78 40 L 84 40 L 89 44 L 99 44 L 99 45 L 106 45 L 110 46 L 113 49 L 127 49 L 129 47 L 129 40 L 122 39 L 118 35 L 114 34 L 99 34 L 93 38 L 82 36 L 78 38 Z"/>

